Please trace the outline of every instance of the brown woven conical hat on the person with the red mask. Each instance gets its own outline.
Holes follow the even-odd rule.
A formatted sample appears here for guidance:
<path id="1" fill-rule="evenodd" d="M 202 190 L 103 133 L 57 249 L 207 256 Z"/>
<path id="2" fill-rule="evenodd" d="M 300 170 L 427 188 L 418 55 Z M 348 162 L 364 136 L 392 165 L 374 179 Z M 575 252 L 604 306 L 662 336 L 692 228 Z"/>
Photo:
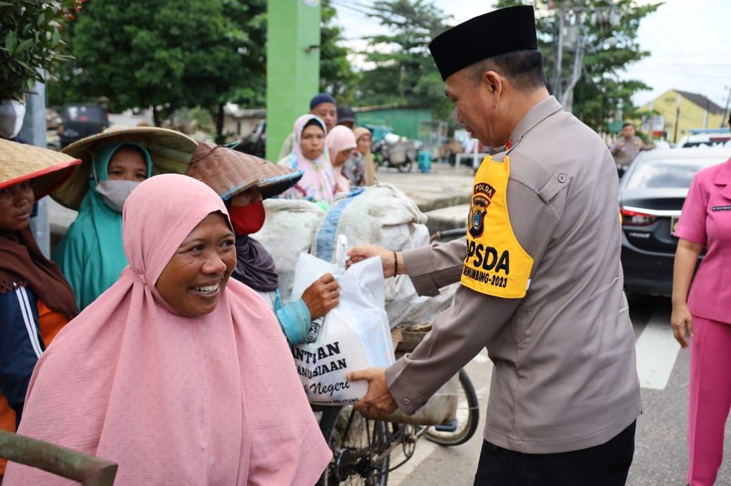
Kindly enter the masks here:
<path id="1" fill-rule="evenodd" d="M 264 199 L 281 194 L 297 183 L 303 172 L 203 142 L 198 145 L 186 174 L 211 186 L 225 201 L 252 186 L 259 188 Z"/>

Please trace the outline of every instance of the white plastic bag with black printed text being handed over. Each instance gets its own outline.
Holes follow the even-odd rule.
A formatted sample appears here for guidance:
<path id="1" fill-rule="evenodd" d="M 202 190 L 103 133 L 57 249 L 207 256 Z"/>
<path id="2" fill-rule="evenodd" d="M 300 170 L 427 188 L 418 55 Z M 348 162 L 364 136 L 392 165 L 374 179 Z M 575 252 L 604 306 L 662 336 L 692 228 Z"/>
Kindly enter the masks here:
<path id="1" fill-rule="evenodd" d="M 309 335 L 317 338 L 292 346 L 310 403 L 355 403 L 366 395 L 368 383 L 347 381 L 346 374 L 394 362 L 381 259 L 370 258 L 345 270 L 346 248 L 347 238 L 339 235 L 336 263 L 305 253 L 297 261 L 292 298 L 299 298 L 325 273 L 336 276 L 340 290 L 338 306 L 312 322 Z"/>

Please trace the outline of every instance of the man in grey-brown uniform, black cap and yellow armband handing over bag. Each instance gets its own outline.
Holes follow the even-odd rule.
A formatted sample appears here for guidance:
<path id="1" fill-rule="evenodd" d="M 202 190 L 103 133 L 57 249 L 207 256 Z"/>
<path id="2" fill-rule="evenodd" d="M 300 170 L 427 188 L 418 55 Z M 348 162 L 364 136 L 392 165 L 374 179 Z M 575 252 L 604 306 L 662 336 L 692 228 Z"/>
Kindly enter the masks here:
<path id="1" fill-rule="evenodd" d="M 457 119 L 486 157 L 466 238 L 404 253 L 385 276 L 421 295 L 461 281 L 433 330 L 368 380 L 358 409 L 423 406 L 484 347 L 493 361 L 476 485 L 624 485 L 641 411 L 623 292 L 616 168 L 607 145 L 548 94 L 532 7 L 468 20 L 429 45 Z"/>

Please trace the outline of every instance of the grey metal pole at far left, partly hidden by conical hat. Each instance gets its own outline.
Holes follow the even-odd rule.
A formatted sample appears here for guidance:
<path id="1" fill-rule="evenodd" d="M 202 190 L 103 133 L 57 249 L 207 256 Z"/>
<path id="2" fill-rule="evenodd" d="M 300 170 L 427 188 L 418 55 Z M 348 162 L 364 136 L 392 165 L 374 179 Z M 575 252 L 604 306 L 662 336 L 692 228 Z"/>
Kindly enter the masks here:
<path id="1" fill-rule="evenodd" d="M 45 74 L 45 73 L 43 73 Z M 45 84 L 36 83 L 35 94 L 28 94 L 26 100 L 26 118 L 18 137 L 37 147 L 46 147 L 45 136 Z M 31 231 L 43 254 L 50 258 L 50 229 L 48 226 L 48 201 L 42 198 L 37 201 L 37 214 L 31 218 Z"/>

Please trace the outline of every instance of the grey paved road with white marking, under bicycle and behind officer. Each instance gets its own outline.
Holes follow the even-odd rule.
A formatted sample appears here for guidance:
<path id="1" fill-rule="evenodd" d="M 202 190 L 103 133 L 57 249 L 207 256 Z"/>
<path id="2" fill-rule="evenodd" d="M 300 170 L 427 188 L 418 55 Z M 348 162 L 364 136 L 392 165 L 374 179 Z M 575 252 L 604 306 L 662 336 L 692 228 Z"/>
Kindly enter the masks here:
<path id="1" fill-rule="evenodd" d="M 644 412 L 637 419 L 635 461 L 627 485 L 685 485 L 689 354 L 679 349 L 673 339 L 670 300 L 633 299 L 630 309 L 637 339 L 637 372 L 642 384 Z M 483 354 L 467 369 L 480 403 L 487 403 L 491 364 Z M 483 405 L 483 421 L 484 414 Z M 481 429 L 482 425 L 478 430 Z M 731 454 L 730 432 L 727 428 L 727 456 Z M 452 448 L 419 441 L 412 460 L 390 474 L 389 484 L 471 485 L 481 446 L 479 433 L 467 444 Z M 731 485 L 731 460 L 724 461 L 716 485 Z"/>

